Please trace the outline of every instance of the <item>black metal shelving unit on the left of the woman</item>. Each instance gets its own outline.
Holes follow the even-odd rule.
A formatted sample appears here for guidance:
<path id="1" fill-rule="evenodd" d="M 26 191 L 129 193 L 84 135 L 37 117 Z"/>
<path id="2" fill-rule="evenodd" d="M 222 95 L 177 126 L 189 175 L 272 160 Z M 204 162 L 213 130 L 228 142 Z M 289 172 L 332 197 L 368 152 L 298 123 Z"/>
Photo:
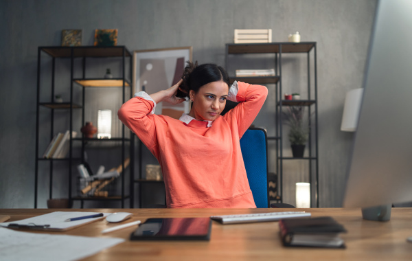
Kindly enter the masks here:
<path id="1" fill-rule="evenodd" d="M 41 55 L 42 53 L 48 54 L 49 57 L 52 58 L 52 87 L 51 87 L 51 102 L 41 102 Z M 86 89 L 89 87 L 115 87 L 115 88 L 122 88 L 122 103 L 126 102 L 126 88 L 130 88 L 130 98 L 132 98 L 132 87 L 130 81 L 126 79 L 126 58 L 128 58 L 130 63 L 130 78 L 133 75 L 133 59 L 131 53 L 128 49 L 124 46 L 113 46 L 113 47 L 95 47 L 95 46 L 79 46 L 79 47 L 60 47 L 60 46 L 53 46 L 53 47 L 38 47 L 38 60 L 37 60 L 37 102 L 36 102 L 36 155 L 35 155 L 35 176 L 34 176 L 34 207 L 36 208 L 38 205 L 38 162 L 39 161 L 49 161 L 49 198 L 53 198 L 52 193 L 52 184 L 53 184 L 53 172 L 54 172 L 54 161 L 62 161 L 67 163 L 67 185 L 69 187 L 69 194 L 68 198 L 69 201 L 81 201 L 81 205 L 83 207 L 84 201 L 120 201 L 121 206 L 124 207 L 125 201 L 128 198 L 133 197 L 133 185 L 129 187 L 130 195 L 126 194 L 126 185 L 125 185 L 125 175 L 127 171 L 124 168 L 124 160 L 126 159 L 126 153 L 128 157 L 130 157 L 130 165 L 129 165 L 129 175 L 133 176 L 134 166 L 133 166 L 133 157 L 134 157 L 134 134 L 130 132 L 130 138 L 126 138 L 125 136 L 125 127 L 122 124 L 122 136 L 121 137 L 113 137 L 111 139 L 87 139 L 85 137 L 80 138 L 73 138 L 70 134 L 69 139 L 69 155 L 65 159 L 43 159 L 39 157 L 39 115 L 41 113 L 41 107 L 50 109 L 50 140 L 52 140 L 54 136 L 54 119 L 57 117 L 55 115 L 55 110 L 66 110 L 69 111 L 69 131 L 73 131 L 73 120 L 81 120 L 81 126 L 84 126 L 84 108 L 87 106 L 85 104 L 85 95 Z M 89 58 L 119 58 L 122 60 L 122 77 L 121 78 L 86 78 L 86 61 Z M 63 103 L 56 103 L 54 102 L 54 91 L 55 91 L 55 68 L 56 68 L 56 61 L 60 59 L 69 59 L 70 60 L 70 98 L 69 102 Z M 82 78 L 74 78 L 74 67 L 75 67 L 75 60 L 81 59 L 82 60 Z M 73 93 L 75 92 L 75 84 L 76 84 L 76 91 L 82 93 L 82 102 L 81 104 L 74 104 L 73 103 Z M 127 98 L 129 99 L 129 98 Z M 47 99 L 46 99 L 47 100 Z M 81 110 L 82 117 L 81 119 L 73 119 L 73 110 Z M 80 130 L 76 130 L 80 132 Z M 121 195 L 118 196 L 108 196 L 108 197 L 98 197 L 98 196 L 73 196 L 73 174 L 78 173 L 74 164 L 79 164 L 84 162 L 84 151 L 87 150 L 86 144 L 96 142 L 108 142 L 108 141 L 117 141 L 117 143 L 121 143 L 122 145 L 122 166 L 123 172 L 120 176 L 121 180 Z M 81 154 L 78 156 L 73 155 L 73 143 L 76 142 L 76 146 L 81 148 Z M 126 142 L 129 143 L 130 151 L 126 151 Z M 131 205 L 130 200 L 130 207 Z"/>

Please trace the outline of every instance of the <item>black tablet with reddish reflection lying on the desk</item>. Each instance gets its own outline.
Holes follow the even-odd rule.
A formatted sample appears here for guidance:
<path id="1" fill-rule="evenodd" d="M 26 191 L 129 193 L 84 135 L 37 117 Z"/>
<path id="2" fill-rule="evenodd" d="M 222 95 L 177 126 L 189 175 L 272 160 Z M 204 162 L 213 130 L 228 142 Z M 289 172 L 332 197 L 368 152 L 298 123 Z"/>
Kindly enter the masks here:
<path id="1" fill-rule="evenodd" d="M 209 240 L 210 218 L 148 218 L 130 240 Z"/>

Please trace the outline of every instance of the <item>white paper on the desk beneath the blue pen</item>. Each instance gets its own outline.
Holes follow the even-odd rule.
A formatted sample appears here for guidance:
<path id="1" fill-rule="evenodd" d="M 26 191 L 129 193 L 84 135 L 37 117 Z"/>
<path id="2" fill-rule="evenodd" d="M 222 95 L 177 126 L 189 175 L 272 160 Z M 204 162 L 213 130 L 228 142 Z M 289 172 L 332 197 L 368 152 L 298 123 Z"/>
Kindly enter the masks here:
<path id="1" fill-rule="evenodd" d="M 7 227 L 10 223 L 16 223 L 19 225 L 50 225 L 49 229 L 68 229 L 70 227 L 77 227 L 78 225 L 90 223 L 101 218 L 86 218 L 69 222 L 66 222 L 66 219 L 77 218 L 78 216 L 89 216 L 93 214 L 98 214 L 98 212 L 52 212 L 19 221 L 0 223 L 0 226 Z M 103 216 L 108 216 L 110 214 L 111 213 L 104 213 Z"/>

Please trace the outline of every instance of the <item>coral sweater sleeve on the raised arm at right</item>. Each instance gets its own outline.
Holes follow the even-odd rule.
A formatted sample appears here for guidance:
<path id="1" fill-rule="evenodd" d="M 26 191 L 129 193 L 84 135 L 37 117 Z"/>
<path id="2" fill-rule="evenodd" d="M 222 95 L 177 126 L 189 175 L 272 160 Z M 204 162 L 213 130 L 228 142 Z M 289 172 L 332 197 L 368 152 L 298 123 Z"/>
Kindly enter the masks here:
<path id="1" fill-rule="evenodd" d="M 241 138 L 262 108 L 268 89 L 262 85 L 245 82 L 237 82 L 237 87 L 236 102 L 239 104 L 226 113 L 225 117 L 236 122 Z"/>

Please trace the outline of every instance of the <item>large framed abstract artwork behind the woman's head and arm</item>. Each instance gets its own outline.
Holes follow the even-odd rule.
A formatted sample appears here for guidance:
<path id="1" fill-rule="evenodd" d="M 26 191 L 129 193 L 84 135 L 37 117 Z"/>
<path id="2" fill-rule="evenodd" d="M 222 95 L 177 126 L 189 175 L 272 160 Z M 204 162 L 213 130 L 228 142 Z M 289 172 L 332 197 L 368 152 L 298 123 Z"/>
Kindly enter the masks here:
<path id="1" fill-rule="evenodd" d="M 133 52 L 133 93 L 152 94 L 172 87 L 181 80 L 186 61 L 192 62 L 192 46 Z M 189 110 L 189 102 L 176 105 L 161 102 L 156 105 L 155 114 L 179 119 Z"/>

